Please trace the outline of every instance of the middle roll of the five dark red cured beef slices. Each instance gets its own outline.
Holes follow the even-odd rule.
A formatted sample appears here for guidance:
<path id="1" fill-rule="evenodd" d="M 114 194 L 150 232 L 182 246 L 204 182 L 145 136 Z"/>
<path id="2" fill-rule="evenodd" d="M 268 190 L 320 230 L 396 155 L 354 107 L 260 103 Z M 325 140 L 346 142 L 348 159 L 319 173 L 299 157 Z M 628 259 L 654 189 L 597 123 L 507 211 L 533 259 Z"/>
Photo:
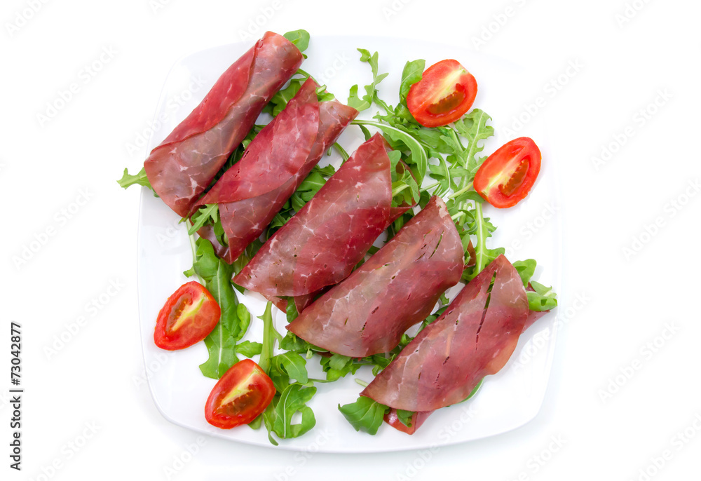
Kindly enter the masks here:
<path id="1" fill-rule="evenodd" d="M 408 207 L 392 208 L 389 147 L 380 134 L 360 145 L 318 193 L 258 251 L 233 282 L 280 309 L 348 277 L 375 239 Z"/>

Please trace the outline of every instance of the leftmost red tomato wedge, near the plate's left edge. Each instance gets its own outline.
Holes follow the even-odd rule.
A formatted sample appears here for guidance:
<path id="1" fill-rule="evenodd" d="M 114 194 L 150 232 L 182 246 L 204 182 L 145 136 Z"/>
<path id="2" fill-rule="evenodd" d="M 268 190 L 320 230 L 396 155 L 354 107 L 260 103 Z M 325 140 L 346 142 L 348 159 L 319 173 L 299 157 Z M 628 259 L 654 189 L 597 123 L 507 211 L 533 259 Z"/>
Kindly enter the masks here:
<path id="1" fill-rule="evenodd" d="M 221 314 L 219 304 L 203 285 L 194 280 L 183 284 L 158 313 L 156 346 L 168 351 L 192 346 L 212 332 Z"/>

